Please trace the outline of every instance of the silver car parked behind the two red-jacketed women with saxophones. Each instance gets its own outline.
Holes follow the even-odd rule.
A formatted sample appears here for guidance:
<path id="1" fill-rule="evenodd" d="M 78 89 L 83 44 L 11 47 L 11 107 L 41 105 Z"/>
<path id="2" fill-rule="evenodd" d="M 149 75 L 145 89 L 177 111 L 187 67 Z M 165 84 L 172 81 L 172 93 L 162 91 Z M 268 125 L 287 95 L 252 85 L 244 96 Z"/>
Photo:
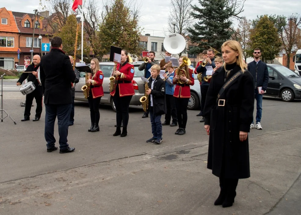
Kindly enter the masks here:
<path id="1" fill-rule="evenodd" d="M 103 97 L 101 97 L 100 104 L 111 104 L 114 111 L 115 105 L 113 102 L 113 97 L 110 95 L 109 90 L 109 77 L 112 74 L 114 63 L 112 62 L 101 62 L 99 63 L 100 70 L 103 72 Z M 134 85 L 135 95 L 133 95 L 130 105 L 141 105 L 140 97 L 144 96 L 144 82 L 141 80 L 141 76 L 143 77 L 144 71 L 138 70 L 138 64 L 134 65 L 135 73 L 134 78 L 132 80 L 132 84 Z M 81 90 L 82 86 L 85 85 L 85 72 L 80 72 L 79 74 L 79 82 L 75 85 L 75 97 L 74 100 L 77 101 L 88 101 L 84 97 L 84 93 Z"/>

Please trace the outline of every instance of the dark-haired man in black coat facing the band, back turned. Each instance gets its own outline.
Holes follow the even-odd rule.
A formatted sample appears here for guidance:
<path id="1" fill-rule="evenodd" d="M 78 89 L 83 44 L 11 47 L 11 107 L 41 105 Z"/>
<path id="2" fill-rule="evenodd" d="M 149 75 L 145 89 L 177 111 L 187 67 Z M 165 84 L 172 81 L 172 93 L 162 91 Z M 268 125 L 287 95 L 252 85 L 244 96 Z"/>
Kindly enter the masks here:
<path id="1" fill-rule="evenodd" d="M 72 107 L 71 82 L 75 73 L 68 55 L 62 50 L 62 39 L 54 37 L 51 41 L 50 53 L 42 56 L 40 76 L 44 91 L 45 103 L 45 140 L 47 152 L 57 149 L 54 138 L 54 122 L 58 120 L 60 153 L 73 152 L 67 144 L 68 122 Z"/>

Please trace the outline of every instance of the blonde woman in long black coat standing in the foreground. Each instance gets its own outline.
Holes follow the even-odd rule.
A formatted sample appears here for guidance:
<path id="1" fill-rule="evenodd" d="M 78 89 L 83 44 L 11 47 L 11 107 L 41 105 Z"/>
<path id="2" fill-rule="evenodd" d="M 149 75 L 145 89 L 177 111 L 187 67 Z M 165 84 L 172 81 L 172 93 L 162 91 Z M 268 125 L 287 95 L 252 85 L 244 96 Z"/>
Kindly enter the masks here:
<path id="1" fill-rule="evenodd" d="M 240 44 L 226 41 L 221 49 L 224 65 L 212 75 L 204 114 L 209 135 L 207 168 L 219 177 L 220 186 L 214 205 L 229 207 L 236 196 L 238 179 L 250 177 L 248 132 L 254 109 L 254 84 Z"/>

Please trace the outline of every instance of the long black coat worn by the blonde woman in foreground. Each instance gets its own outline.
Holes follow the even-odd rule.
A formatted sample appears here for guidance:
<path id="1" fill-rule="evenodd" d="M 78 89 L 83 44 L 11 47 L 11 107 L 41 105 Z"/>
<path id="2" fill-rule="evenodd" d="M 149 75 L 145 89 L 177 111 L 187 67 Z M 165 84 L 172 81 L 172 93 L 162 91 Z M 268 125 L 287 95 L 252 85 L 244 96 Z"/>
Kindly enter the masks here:
<path id="1" fill-rule="evenodd" d="M 240 70 L 236 64 L 227 80 Z M 249 132 L 254 109 L 254 84 L 249 71 L 245 71 L 226 88 L 219 99 L 225 99 L 225 106 L 217 105 L 217 95 L 222 88 L 225 69 L 219 68 L 209 85 L 204 115 L 205 125 L 210 125 L 207 168 L 217 177 L 250 177 L 249 145 L 239 140 L 239 132 Z"/>

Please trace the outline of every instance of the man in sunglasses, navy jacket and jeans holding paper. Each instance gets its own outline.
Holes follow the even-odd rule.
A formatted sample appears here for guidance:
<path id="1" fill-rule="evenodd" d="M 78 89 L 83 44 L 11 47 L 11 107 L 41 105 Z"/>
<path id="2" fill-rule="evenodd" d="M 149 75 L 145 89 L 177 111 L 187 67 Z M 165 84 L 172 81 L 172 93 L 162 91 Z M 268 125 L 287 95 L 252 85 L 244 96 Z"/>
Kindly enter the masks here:
<path id="1" fill-rule="evenodd" d="M 261 51 L 256 48 L 253 52 L 254 61 L 248 63 L 248 71 L 251 72 L 254 79 L 254 93 L 256 99 L 256 125 L 254 126 L 254 121 L 250 125 L 250 129 L 257 128 L 262 129 L 260 120 L 262 114 L 262 96 L 267 89 L 267 84 L 269 82 L 269 72 L 267 70 L 267 64 L 260 60 Z"/>

